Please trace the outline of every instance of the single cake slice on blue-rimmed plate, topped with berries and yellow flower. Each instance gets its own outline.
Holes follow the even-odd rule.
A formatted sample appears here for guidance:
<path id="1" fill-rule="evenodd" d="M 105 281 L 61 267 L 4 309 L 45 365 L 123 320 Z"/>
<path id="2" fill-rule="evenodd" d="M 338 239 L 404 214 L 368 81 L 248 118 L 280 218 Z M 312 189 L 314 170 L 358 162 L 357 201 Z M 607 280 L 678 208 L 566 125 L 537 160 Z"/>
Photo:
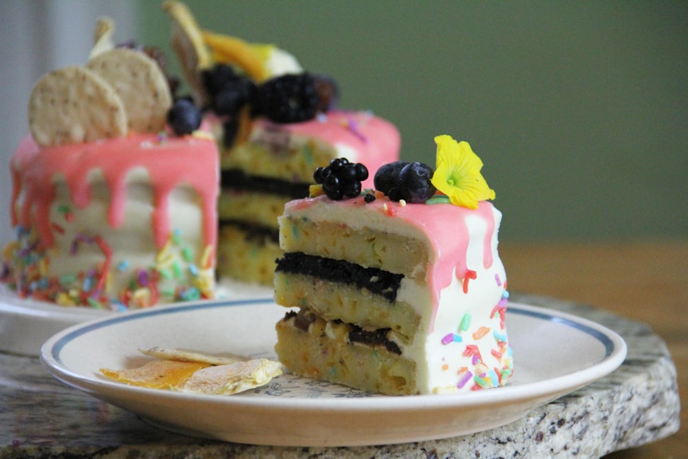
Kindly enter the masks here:
<path id="1" fill-rule="evenodd" d="M 275 298 L 293 309 L 275 350 L 291 372 L 389 395 L 509 383 L 502 213 L 471 147 L 436 141 L 435 170 L 386 164 L 347 198 L 333 162 L 315 173 L 325 194 L 286 205 Z"/>

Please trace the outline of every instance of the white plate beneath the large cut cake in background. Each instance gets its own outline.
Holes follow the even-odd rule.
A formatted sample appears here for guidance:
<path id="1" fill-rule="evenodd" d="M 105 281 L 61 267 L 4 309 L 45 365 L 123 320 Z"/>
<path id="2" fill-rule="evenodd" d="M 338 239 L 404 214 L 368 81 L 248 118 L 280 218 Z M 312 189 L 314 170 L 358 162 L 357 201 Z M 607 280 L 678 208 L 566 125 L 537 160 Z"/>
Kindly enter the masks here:
<path id="1" fill-rule="evenodd" d="M 272 288 L 268 287 L 222 281 L 215 293 L 222 299 L 244 299 L 268 297 L 271 292 Z M 41 345 L 57 332 L 112 314 L 109 310 L 69 308 L 22 299 L 5 284 L 0 284 L 0 352 L 38 356 Z"/>

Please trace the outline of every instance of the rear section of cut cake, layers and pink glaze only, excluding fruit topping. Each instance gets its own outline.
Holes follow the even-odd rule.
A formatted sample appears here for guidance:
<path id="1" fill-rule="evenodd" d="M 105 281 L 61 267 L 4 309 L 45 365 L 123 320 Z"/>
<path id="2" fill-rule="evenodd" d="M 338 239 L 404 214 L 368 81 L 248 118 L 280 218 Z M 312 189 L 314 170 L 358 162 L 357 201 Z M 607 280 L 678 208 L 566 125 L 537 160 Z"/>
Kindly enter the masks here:
<path id="1" fill-rule="evenodd" d="M 282 255 L 277 217 L 308 196 L 313 169 L 339 157 L 379 167 L 398 158 L 399 145 L 394 125 L 363 111 L 284 124 L 258 118 L 246 142 L 221 153 L 220 277 L 272 284 Z"/>

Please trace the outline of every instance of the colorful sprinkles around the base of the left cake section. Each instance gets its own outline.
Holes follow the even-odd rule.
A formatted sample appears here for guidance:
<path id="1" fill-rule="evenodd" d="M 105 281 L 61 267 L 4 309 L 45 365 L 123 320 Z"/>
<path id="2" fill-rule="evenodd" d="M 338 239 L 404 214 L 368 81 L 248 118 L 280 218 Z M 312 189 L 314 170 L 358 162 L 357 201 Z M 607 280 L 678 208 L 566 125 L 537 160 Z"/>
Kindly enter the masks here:
<path id="1" fill-rule="evenodd" d="M 58 212 L 65 220 L 72 215 L 68 206 L 59 206 Z M 77 233 L 69 244 L 69 253 L 75 256 L 84 246 L 95 246 L 102 258 L 86 270 L 60 277 L 49 275 L 51 251 L 41 245 L 36 233 L 20 227 L 16 233 L 17 240 L 3 250 L 0 281 L 8 284 L 21 298 L 120 311 L 147 308 L 161 299 L 191 301 L 213 296 L 213 247 L 206 246 L 195 259 L 193 250 L 183 245 L 179 230 L 171 232 L 151 266 L 133 266 L 126 259 L 114 261 L 114 251 L 105 239 Z M 122 275 L 129 276 L 129 281 L 125 282 L 127 287 L 115 297 L 109 297 L 106 292 L 113 277 Z M 161 290 L 161 282 L 171 280 L 178 285 Z"/>

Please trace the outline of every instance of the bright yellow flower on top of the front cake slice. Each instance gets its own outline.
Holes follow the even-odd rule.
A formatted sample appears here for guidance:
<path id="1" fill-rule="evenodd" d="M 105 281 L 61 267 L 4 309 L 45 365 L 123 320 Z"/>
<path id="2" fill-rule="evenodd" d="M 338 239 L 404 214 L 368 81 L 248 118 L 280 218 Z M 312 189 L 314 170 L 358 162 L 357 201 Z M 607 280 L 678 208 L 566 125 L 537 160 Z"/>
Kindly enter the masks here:
<path id="1" fill-rule="evenodd" d="M 432 176 L 435 188 L 449 196 L 455 206 L 477 209 L 477 203 L 495 199 L 482 174 L 482 161 L 469 142 L 457 142 L 451 136 L 437 136 L 437 166 Z"/>

